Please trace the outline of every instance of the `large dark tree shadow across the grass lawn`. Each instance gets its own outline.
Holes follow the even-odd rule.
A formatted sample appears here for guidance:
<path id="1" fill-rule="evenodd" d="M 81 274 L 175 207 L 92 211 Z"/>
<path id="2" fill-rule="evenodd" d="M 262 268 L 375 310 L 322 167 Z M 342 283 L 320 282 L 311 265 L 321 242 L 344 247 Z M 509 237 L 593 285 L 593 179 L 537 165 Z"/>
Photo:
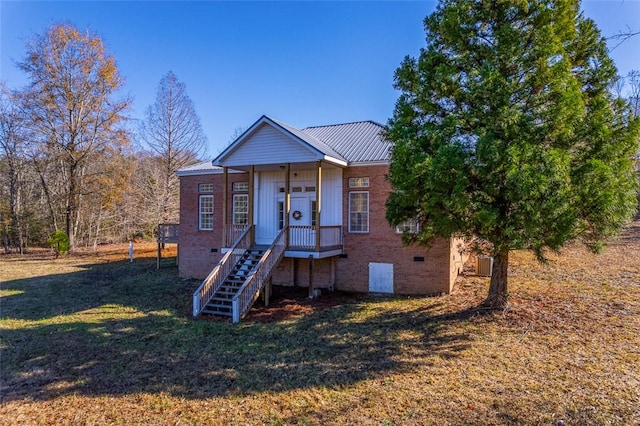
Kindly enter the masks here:
<path id="1" fill-rule="evenodd" d="M 194 321 L 199 283 L 174 268 L 156 271 L 151 260 L 86 268 L 2 283 L 3 401 L 339 387 L 417 371 L 472 338 L 453 326 L 471 311 L 438 315 L 437 299 L 392 311 L 354 298 L 274 323 Z"/>

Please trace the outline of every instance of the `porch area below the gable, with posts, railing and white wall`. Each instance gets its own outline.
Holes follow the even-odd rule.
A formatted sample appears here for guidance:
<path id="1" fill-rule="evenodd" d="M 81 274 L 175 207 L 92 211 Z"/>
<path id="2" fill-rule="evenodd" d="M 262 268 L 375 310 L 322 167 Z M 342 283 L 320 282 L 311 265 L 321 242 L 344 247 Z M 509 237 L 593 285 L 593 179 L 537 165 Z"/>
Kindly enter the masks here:
<path id="1" fill-rule="evenodd" d="M 236 166 L 246 192 L 229 184 L 223 167 L 222 250 L 247 229 L 253 246 L 269 246 L 284 230 L 285 257 L 315 259 L 342 253 L 342 170 L 323 161 Z"/>

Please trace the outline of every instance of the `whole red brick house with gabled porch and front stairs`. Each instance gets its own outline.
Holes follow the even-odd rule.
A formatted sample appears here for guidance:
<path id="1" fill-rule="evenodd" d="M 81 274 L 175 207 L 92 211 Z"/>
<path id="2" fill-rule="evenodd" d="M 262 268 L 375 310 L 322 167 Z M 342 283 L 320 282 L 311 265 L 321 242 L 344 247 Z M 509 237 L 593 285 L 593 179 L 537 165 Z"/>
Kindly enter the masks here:
<path id="1" fill-rule="evenodd" d="M 239 321 L 271 285 L 449 293 L 458 241 L 402 244 L 385 219 L 391 144 L 364 121 L 298 130 L 263 116 L 180 177 L 179 271 L 204 278 L 194 315 Z"/>

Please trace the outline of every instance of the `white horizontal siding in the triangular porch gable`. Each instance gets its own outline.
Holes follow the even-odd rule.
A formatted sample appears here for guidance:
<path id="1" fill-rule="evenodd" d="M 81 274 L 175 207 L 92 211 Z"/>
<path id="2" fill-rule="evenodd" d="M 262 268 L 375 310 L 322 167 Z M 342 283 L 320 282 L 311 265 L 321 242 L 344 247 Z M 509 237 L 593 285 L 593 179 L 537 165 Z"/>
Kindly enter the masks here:
<path id="1" fill-rule="evenodd" d="M 322 155 L 306 149 L 288 135 L 264 124 L 225 158 L 224 165 L 233 167 L 295 163 L 321 158 Z"/>

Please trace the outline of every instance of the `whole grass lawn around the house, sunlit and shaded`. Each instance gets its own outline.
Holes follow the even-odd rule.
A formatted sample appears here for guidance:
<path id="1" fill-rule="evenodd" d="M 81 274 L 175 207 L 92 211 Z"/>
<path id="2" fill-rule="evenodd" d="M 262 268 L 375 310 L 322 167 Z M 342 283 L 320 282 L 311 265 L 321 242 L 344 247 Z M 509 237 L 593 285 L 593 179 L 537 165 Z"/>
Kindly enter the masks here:
<path id="1" fill-rule="evenodd" d="M 281 295 L 193 320 L 153 247 L 0 256 L 0 424 L 640 424 L 640 222 L 601 255 L 511 256 L 511 306 Z"/>

